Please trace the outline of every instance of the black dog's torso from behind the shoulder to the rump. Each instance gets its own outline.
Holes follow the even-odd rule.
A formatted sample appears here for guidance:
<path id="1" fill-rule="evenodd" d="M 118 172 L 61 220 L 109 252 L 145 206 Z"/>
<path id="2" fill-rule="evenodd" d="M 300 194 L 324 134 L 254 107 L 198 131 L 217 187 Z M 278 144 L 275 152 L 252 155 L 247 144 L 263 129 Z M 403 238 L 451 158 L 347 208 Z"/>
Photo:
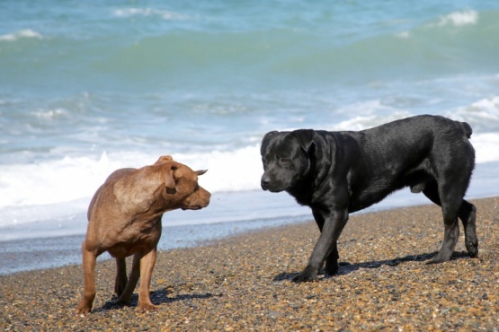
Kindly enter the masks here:
<path id="1" fill-rule="evenodd" d="M 332 133 L 352 165 L 349 210 L 378 203 L 404 187 L 422 192 L 442 169 L 451 171 L 457 164 L 464 163 L 468 183 L 475 165 L 468 141 L 471 133 L 465 122 L 435 116 L 406 118 L 360 132 Z"/>

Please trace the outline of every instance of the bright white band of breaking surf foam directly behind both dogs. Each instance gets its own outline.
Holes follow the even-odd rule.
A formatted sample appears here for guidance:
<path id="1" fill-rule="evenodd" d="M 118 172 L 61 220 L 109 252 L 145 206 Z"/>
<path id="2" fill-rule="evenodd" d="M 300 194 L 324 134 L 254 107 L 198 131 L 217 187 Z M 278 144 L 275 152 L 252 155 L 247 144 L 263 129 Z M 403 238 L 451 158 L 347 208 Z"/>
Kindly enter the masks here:
<path id="1" fill-rule="evenodd" d="M 405 113 L 391 118 L 357 117 L 340 123 L 342 129 L 373 127 L 388 119 L 404 118 Z M 477 162 L 499 161 L 499 135 L 474 133 L 472 143 Z M 90 198 L 113 170 L 141 167 L 156 162 L 164 153 L 117 152 L 93 156 L 65 157 L 30 164 L 0 165 L 0 208 L 8 206 L 49 205 Z M 211 192 L 251 191 L 260 188 L 263 172 L 259 144 L 233 151 L 206 153 L 174 153 L 174 160 L 193 170 L 208 170 L 200 177 L 200 185 Z"/>

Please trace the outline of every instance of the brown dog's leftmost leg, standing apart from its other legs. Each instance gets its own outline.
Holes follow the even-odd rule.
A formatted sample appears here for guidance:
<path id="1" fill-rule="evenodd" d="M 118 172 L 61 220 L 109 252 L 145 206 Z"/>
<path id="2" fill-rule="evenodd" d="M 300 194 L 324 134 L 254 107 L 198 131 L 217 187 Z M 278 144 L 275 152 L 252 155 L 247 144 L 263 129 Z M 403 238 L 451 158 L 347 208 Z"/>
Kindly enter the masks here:
<path id="1" fill-rule="evenodd" d="M 85 290 L 82 300 L 76 307 L 76 314 L 85 314 L 92 310 L 95 298 L 95 260 L 94 252 L 86 249 L 86 242 L 82 244 L 83 270 Z"/>

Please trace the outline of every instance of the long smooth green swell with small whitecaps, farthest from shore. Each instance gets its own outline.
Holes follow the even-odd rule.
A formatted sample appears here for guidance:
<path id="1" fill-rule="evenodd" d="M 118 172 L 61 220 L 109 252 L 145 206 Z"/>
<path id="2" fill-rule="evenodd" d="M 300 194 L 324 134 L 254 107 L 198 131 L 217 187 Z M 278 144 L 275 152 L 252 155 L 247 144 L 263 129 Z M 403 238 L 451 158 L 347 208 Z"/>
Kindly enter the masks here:
<path id="1" fill-rule="evenodd" d="M 153 8 L 115 9 L 114 14 L 161 20 L 188 18 L 183 13 Z M 499 44 L 490 40 L 498 33 L 498 12 L 464 11 L 443 17 L 443 24 L 439 23 L 443 19 L 435 18 L 432 23 L 401 25 L 402 31 L 392 27 L 350 38 L 340 32 L 328 34 L 286 25 L 213 31 L 194 23 L 192 29 L 171 27 L 170 23 L 153 29 L 147 22 L 144 31 L 129 27 L 129 35 L 121 31 L 112 36 L 52 33 L 50 38 L 24 30 L 0 36 L 0 41 L 5 41 L 0 74 L 9 75 L 14 83 L 35 80 L 41 85 L 47 77 L 51 84 L 64 81 L 76 89 L 109 84 L 136 91 L 144 89 L 145 83 L 146 89 L 199 82 L 236 86 L 240 81 L 297 82 L 299 77 L 300 83 L 321 84 L 391 77 L 412 80 L 414 76 L 483 73 L 497 68 Z M 112 27 L 117 22 L 106 24 Z M 7 40 L 21 39 L 43 39 L 43 43 L 26 43 L 23 48 L 6 45 Z"/>

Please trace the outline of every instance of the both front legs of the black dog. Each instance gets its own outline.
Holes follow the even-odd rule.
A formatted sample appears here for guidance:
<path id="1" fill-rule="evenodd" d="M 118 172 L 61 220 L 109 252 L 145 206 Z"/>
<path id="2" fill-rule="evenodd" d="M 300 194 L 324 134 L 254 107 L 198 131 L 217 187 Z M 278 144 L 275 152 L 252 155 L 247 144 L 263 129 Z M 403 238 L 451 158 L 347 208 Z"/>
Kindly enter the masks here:
<path id="1" fill-rule="evenodd" d="M 314 211 L 314 215 L 317 212 Z M 324 214 L 323 214 L 324 215 Z M 322 232 L 317 240 L 316 247 L 312 251 L 312 255 L 308 258 L 308 264 L 305 269 L 293 281 L 296 283 L 313 281 L 320 268 L 324 265 L 327 258 L 325 269 L 326 273 L 334 274 L 338 268 L 338 251 L 336 241 L 343 231 L 343 227 L 348 221 L 348 212 L 334 211 L 325 217 L 325 222 L 322 227 Z M 320 227 L 319 227 L 320 228 Z"/>

